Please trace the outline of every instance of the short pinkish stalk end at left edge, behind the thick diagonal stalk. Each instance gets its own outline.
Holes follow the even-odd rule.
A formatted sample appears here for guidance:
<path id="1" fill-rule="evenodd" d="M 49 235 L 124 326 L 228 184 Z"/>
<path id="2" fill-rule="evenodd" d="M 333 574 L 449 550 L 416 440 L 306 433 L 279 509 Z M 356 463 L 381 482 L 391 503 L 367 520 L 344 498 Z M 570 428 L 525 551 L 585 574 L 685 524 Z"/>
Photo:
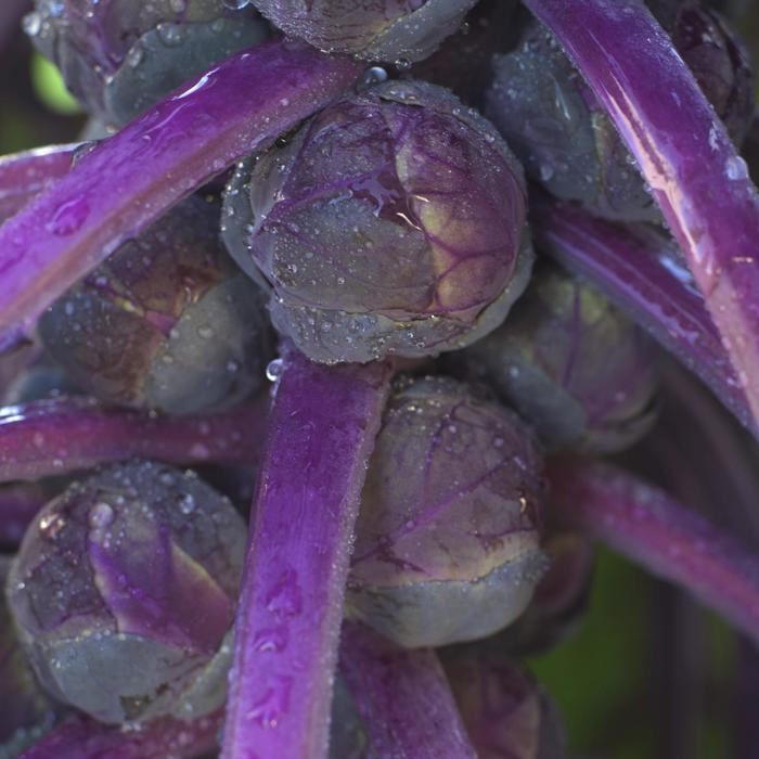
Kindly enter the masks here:
<path id="1" fill-rule="evenodd" d="M 35 195 L 67 175 L 76 149 L 76 144 L 50 145 L 0 157 L 0 222 L 17 214 Z"/>

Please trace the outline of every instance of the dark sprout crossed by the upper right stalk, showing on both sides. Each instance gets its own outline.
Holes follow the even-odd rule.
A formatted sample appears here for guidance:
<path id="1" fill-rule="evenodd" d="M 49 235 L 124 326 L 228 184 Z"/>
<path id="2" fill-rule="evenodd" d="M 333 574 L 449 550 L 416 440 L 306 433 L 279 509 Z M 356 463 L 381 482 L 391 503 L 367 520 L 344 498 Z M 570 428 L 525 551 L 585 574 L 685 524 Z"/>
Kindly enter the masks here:
<path id="1" fill-rule="evenodd" d="M 719 16 L 691 0 L 649 4 L 739 145 L 754 111 L 746 52 Z M 493 69 L 485 113 L 533 181 L 609 219 L 661 221 L 632 155 L 550 31 L 530 25 Z"/>

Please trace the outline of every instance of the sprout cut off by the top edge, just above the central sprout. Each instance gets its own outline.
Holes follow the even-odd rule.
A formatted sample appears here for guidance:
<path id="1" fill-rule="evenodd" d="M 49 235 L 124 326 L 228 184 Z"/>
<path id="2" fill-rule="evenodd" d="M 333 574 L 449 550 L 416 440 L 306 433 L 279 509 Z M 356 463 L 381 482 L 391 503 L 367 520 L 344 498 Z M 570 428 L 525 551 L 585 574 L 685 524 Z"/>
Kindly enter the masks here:
<path id="1" fill-rule="evenodd" d="M 288 37 L 366 61 L 421 61 L 460 26 L 476 0 L 254 0 Z"/>

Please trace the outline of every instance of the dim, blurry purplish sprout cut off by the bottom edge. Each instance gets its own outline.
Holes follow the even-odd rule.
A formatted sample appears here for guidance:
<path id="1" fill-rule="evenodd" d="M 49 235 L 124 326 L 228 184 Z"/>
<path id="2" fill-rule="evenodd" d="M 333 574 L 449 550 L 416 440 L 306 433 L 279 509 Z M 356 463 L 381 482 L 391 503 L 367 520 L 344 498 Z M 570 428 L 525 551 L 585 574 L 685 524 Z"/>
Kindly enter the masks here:
<path id="1" fill-rule="evenodd" d="M 440 659 L 479 759 L 564 759 L 558 708 L 492 646 L 455 646 Z"/>

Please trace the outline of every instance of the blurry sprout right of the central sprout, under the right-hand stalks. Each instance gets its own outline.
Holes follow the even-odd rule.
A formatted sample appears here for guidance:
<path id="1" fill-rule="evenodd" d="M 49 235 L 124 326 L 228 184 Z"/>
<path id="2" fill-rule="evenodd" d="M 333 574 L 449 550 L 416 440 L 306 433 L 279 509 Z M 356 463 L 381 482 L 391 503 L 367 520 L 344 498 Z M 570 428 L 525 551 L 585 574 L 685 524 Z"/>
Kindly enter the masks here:
<path id="1" fill-rule="evenodd" d="M 550 449 L 619 451 L 656 419 L 653 344 L 601 293 L 548 262 L 509 320 L 464 356 Z"/>

